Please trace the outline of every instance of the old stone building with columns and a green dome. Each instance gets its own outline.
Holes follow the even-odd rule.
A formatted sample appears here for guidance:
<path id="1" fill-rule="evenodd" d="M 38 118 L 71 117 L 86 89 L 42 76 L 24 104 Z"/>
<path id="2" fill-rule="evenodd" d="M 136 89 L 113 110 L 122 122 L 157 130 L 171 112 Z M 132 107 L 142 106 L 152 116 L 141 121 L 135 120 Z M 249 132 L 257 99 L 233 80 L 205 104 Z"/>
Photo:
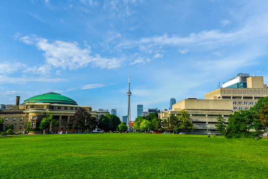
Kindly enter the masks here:
<path id="1" fill-rule="evenodd" d="M 92 117 L 96 117 L 97 112 L 92 111 L 90 106 L 79 106 L 73 99 L 55 92 L 30 97 L 21 105 L 19 105 L 19 96 L 17 96 L 15 105 L 9 109 L 0 110 L 0 118 L 4 119 L 4 131 L 7 125 L 11 124 L 15 133 L 23 133 L 26 131 L 28 122 L 30 122 L 31 128 L 36 129 L 46 113 L 51 111 L 54 121 L 59 121 L 59 125 L 51 125 L 49 131 L 69 131 L 69 119 L 79 108 L 84 108 Z"/>

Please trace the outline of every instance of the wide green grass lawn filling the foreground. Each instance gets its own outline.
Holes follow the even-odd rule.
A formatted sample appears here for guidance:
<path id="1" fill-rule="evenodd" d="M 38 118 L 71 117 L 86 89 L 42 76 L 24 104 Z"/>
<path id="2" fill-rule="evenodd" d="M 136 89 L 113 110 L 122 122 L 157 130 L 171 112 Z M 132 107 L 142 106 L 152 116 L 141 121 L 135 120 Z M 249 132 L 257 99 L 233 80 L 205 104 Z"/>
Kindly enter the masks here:
<path id="1" fill-rule="evenodd" d="M 175 134 L 0 137 L 1 179 L 268 179 L 268 140 Z"/>

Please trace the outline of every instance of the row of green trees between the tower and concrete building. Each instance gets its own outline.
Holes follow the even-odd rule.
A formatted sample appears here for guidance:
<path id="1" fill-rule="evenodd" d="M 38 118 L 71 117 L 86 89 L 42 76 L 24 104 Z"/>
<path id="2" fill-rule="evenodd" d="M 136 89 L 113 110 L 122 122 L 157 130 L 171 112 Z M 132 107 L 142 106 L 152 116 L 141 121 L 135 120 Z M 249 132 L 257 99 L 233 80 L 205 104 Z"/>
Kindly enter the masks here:
<path id="1" fill-rule="evenodd" d="M 157 112 L 150 113 L 146 117 L 138 116 L 135 119 L 133 129 L 137 131 L 169 131 L 184 132 L 194 130 L 194 125 L 190 121 L 190 115 L 187 111 L 182 110 L 180 114 L 170 114 L 168 119 L 161 120 Z"/>

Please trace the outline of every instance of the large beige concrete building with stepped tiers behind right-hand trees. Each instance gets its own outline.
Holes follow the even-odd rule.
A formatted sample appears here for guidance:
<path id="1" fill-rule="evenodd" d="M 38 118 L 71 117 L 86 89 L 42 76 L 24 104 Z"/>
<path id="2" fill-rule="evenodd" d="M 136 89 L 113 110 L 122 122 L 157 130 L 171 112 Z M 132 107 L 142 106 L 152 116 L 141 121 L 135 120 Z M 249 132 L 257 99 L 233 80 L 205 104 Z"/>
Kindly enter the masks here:
<path id="1" fill-rule="evenodd" d="M 260 97 L 268 96 L 263 77 L 248 77 L 247 88 L 219 88 L 205 94 L 205 99 L 184 99 L 172 105 L 169 111 L 161 111 L 159 118 L 168 119 L 170 114 L 180 115 L 187 110 L 195 129 L 193 134 L 216 134 L 215 124 L 219 114 L 227 121 L 228 115 L 249 109 Z"/>

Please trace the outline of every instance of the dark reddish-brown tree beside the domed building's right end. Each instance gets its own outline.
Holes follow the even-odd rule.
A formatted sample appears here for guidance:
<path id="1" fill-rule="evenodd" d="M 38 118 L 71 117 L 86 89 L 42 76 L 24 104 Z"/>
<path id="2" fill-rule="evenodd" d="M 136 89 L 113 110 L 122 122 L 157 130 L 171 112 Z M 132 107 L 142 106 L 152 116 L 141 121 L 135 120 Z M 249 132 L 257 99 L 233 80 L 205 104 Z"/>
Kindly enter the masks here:
<path id="1" fill-rule="evenodd" d="M 97 126 L 97 119 L 91 117 L 91 114 L 84 108 L 79 108 L 69 121 L 69 126 L 73 129 L 80 129 L 80 131 L 93 130 Z"/>

